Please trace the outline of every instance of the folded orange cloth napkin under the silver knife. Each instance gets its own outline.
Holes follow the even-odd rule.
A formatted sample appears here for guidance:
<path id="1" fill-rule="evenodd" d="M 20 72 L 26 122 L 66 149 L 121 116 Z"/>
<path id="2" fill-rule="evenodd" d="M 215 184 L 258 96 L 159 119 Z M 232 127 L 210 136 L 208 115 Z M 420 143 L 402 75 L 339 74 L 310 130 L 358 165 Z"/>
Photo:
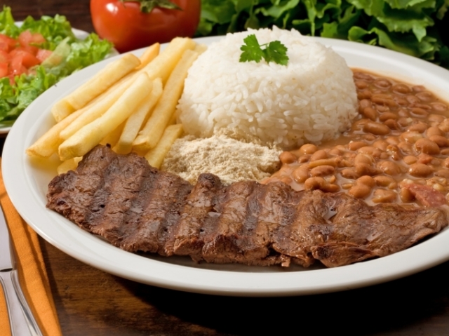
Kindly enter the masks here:
<path id="1" fill-rule="evenodd" d="M 1 159 L 0 159 L 1 164 Z M 6 194 L 0 172 L 0 203 L 13 238 L 20 284 L 42 334 L 62 335 L 47 271 L 36 232 L 22 220 Z M 0 286 L 0 334 L 11 335 L 4 293 Z"/>

